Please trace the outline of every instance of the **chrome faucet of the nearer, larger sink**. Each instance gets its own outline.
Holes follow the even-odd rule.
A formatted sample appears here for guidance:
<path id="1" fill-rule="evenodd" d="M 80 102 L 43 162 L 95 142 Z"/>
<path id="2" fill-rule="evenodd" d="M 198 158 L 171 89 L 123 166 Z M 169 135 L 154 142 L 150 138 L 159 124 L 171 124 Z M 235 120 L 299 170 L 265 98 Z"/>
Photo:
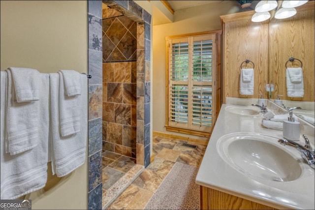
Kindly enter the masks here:
<path id="1" fill-rule="evenodd" d="M 303 159 L 306 160 L 306 162 L 315 169 L 315 150 L 312 149 L 310 141 L 305 134 L 303 134 L 303 138 L 305 140 L 305 146 L 302 146 L 296 142 L 287 139 L 279 139 L 278 142 L 284 146 L 288 145 L 299 150 Z"/>

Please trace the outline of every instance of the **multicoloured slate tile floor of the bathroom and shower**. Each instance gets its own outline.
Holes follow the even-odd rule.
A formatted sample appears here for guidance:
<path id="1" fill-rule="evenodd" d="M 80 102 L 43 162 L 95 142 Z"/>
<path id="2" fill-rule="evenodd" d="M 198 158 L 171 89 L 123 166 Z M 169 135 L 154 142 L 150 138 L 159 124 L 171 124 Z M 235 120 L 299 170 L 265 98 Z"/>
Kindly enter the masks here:
<path id="1" fill-rule="evenodd" d="M 196 145 L 197 148 L 183 146 L 183 143 Z M 202 143 L 187 142 L 178 139 L 165 138 L 161 136 L 153 137 L 153 154 L 154 161 L 141 171 L 141 174 L 133 180 L 133 182 L 122 192 L 122 194 L 114 200 L 109 207 L 109 210 L 120 209 L 138 209 L 142 210 L 153 194 L 158 189 L 158 186 L 164 180 L 166 175 L 174 166 L 175 162 L 189 164 L 198 167 L 203 154 L 206 150 L 206 145 Z M 130 158 L 129 158 L 130 159 Z M 116 163 L 115 163 L 116 161 Z M 126 161 L 126 163 L 124 163 Z M 110 187 L 115 180 L 124 176 L 124 173 L 129 173 L 128 168 L 138 166 L 133 160 L 128 160 L 125 156 L 119 156 L 112 152 L 103 153 L 103 191 Z M 115 173 L 114 176 L 107 176 Z M 139 173 L 139 172 L 138 172 Z M 107 183 L 108 182 L 108 183 Z M 117 182 L 115 183 L 117 184 Z M 103 208 L 104 208 L 103 193 Z"/>

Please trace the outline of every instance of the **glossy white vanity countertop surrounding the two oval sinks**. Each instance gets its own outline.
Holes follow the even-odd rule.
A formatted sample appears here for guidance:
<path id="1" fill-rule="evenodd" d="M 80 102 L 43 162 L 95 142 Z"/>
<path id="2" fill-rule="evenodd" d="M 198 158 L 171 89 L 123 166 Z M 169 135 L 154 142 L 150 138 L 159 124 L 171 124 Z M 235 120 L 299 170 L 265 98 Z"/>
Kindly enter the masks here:
<path id="1" fill-rule="evenodd" d="M 251 103 L 252 100 L 249 101 L 249 104 Z M 272 104 L 267 103 L 267 105 L 272 107 Z M 302 159 L 298 150 L 289 146 L 284 148 L 294 155 L 294 158 L 301 159 L 302 174 L 293 181 L 252 179 L 231 167 L 221 158 L 217 150 L 217 142 L 225 134 L 250 132 L 283 138 L 282 131 L 262 127 L 262 114 L 258 117 L 242 116 L 225 111 L 226 106 L 229 105 L 223 104 L 221 107 L 198 170 L 196 183 L 277 209 L 315 209 L 315 172 Z M 259 108 L 257 109 L 259 110 Z M 302 127 L 301 135 L 306 133 L 305 130 L 311 130 L 311 134 L 307 133 L 307 136 L 314 148 L 314 127 L 308 127 L 303 120 L 299 121 Z M 298 143 L 304 145 L 304 140 L 301 140 L 303 140 L 302 136 Z"/>

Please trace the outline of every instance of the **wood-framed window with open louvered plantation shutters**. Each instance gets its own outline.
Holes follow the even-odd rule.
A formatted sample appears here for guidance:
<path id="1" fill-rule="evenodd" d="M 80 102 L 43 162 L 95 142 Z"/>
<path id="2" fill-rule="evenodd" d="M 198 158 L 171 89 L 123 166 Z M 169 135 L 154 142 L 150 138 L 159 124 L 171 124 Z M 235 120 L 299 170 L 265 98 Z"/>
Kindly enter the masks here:
<path id="1" fill-rule="evenodd" d="M 166 129 L 205 136 L 213 126 L 216 34 L 167 39 Z"/>

